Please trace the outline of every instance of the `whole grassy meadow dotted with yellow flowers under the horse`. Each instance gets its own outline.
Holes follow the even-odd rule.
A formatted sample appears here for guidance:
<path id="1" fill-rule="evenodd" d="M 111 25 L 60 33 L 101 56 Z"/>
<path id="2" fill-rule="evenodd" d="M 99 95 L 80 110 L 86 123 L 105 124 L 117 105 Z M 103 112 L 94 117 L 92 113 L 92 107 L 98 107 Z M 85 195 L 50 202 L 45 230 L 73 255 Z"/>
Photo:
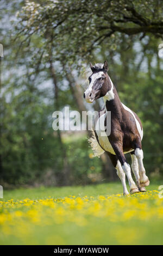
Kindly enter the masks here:
<path id="1" fill-rule="evenodd" d="M 160 245 L 159 185 L 151 182 L 147 192 L 126 197 L 121 182 L 4 191 L 0 244 Z"/>

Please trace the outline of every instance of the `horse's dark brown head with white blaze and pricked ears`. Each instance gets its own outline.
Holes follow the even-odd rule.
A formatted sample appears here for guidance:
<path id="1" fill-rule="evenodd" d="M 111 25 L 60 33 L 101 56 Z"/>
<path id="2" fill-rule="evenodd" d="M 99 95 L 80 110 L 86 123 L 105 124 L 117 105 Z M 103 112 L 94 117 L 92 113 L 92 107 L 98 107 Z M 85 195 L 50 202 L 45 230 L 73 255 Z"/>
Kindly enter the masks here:
<path id="1" fill-rule="evenodd" d="M 87 102 L 92 103 L 93 100 L 97 100 L 100 97 L 106 95 L 108 90 L 111 89 L 111 83 L 108 76 L 108 62 L 104 64 L 98 63 L 93 66 L 90 63 L 92 75 L 89 77 L 89 87 L 84 93 L 84 98 Z"/>

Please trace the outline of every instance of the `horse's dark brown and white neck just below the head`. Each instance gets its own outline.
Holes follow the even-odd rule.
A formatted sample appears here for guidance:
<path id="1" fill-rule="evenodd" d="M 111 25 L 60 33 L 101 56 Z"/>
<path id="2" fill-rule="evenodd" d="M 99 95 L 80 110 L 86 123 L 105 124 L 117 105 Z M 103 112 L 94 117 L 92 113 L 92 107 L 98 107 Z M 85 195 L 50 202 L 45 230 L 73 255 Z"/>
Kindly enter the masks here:
<path id="1" fill-rule="evenodd" d="M 111 96 L 113 94 L 114 96 Z M 110 94 L 108 92 L 108 97 L 105 95 L 103 99 L 106 110 L 111 111 L 111 117 L 120 119 L 122 117 L 122 103 L 114 86 L 112 92 Z"/>

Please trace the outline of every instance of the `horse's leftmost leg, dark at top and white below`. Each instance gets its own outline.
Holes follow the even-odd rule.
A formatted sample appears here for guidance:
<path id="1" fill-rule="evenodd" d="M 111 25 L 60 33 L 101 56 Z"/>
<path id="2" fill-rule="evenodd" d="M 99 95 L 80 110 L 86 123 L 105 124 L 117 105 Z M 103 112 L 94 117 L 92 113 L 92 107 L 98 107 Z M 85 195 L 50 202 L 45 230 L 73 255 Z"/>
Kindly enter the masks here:
<path id="1" fill-rule="evenodd" d="M 116 155 L 113 155 L 109 152 L 107 152 L 110 160 L 112 162 L 112 164 L 114 165 L 114 167 L 117 170 L 117 175 L 120 178 L 121 182 L 122 182 L 122 186 L 123 186 L 123 196 L 127 196 L 127 194 L 129 194 L 128 190 L 127 190 L 127 186 L 126 186 L 126 175 L 122 169 L 121 163 L 120 161 L 117 159 Z"/>

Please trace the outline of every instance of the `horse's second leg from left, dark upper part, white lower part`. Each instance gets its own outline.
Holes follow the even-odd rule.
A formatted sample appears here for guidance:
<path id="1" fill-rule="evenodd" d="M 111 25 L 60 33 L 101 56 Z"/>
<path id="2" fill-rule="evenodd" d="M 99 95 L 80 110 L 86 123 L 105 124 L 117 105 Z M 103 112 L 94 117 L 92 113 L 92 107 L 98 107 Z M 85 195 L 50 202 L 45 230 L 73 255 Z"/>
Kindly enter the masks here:
<path id="1" fill-rule="evenodd" d="M 124 170 L 124 173 L 126 174 L 126 176 L 128 178 L 128 182 L 129 182 L 129 186 L 130 186 L 130 193 L 133 194 L 133 193 L 140 192 L 139 188 L 135 185 L 135 182 L 131 176 L 131 168 L 130 168 L 130 165 L 126 161 L 126 157 L 124 156 L 122 144 L 120 142 L 116 142 L 116 143 L 112 142 L 111 145 L 115 151 L 115 154 L 116 154 L 118 160 L 120 161 L 120 163 L 122 165 L 122 169 Z"/>

